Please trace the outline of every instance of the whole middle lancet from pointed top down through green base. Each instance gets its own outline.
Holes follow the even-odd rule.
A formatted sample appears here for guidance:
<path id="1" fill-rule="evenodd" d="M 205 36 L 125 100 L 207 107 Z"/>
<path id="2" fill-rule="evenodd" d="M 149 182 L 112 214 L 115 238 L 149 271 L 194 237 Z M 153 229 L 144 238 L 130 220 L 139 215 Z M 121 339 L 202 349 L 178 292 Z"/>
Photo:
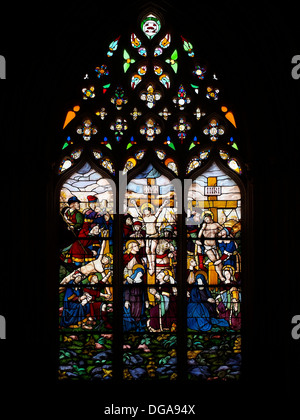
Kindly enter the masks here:
<path id="1" fill-rule="evenodd" d="M 172 181 L 150 164 L 129 182 L 124 213 L 124 379 L 173 380 L 177 377 L 177 208 Z"/>

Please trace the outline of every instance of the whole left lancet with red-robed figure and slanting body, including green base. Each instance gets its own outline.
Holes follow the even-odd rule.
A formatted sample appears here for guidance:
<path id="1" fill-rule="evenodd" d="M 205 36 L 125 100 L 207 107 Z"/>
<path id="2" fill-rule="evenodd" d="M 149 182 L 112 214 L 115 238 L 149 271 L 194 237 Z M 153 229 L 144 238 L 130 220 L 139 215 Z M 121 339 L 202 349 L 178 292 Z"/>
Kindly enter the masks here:
<path id="1" fill-rule="evenodd" d="M 113 203 L 110 183 L 88 163 L 60 190 L 71 233 L 60 238 L 60 380 L 113 377 Z"/>

